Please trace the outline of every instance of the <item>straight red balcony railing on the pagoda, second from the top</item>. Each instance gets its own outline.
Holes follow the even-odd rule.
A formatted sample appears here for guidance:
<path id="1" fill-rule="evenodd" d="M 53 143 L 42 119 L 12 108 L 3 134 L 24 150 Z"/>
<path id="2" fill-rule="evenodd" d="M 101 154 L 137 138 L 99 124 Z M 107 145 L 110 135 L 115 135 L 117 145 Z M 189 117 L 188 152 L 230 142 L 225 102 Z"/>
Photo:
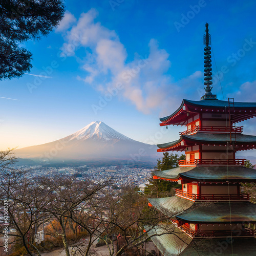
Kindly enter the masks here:
<path id="1" fill-rule="evenodd" d="M 179 166 L 197 166 L 197 165 L 244 165 L 246 159 L 190 159 L 179 160 Z"/>

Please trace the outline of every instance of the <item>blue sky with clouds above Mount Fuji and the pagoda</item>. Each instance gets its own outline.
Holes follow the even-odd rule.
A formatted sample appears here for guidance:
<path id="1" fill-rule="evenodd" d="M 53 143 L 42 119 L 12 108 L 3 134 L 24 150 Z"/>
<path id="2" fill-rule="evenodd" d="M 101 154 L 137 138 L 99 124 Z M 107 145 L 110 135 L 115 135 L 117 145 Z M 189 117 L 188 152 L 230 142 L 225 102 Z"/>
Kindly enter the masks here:
<path id="1" fill-rule="evenodd" d="M 254 1 L 66 1 L 47 37 L 29 41 L 30 75 L 0 82 L 0 149 L 68 136 L 92 121 L 148 143 L 178 138 L 159 117 L 203 92 L 203 34 L 209 23 L 223 96 L 255 101 Z M 212 61 L 214 89 L 223 99 Z M 224 73 L 223 73 L 223 72 Z M 17 100 L 12 100 L 17 99 Z M 255 134 L 255 122 L 244 122 Z"/>

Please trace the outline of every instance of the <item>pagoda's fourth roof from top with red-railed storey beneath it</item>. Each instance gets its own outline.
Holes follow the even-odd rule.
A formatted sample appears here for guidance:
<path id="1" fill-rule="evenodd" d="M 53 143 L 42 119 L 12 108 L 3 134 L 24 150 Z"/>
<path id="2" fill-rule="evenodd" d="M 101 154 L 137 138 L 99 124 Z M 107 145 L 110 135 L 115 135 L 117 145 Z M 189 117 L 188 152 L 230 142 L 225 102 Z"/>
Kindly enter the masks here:
<path id="1" fill-rule="evenodd" d="M 254 237 L 254 230 L 247 226 L 256 224 L 256 204 L 248 201 L 202 203 L 179 196 L 148 201 L 190 237 L 226 237 L 230 225 L 236 237 Z"/>

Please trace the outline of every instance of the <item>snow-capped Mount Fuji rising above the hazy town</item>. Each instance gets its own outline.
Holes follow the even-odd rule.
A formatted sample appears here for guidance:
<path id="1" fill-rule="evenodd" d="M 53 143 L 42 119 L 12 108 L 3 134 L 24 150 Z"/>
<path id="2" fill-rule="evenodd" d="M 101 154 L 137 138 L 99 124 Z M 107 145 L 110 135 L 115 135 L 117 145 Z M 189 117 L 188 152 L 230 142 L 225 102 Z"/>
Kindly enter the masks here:
<path id="1" fill-rule="evenodd" d="M 59 140 L 20 148 L 15 155 L 45 163 L 76 160 L 155 162 L 160 157 L 156 145 L 130 139 L 101 121 L 92 122 Z"/>

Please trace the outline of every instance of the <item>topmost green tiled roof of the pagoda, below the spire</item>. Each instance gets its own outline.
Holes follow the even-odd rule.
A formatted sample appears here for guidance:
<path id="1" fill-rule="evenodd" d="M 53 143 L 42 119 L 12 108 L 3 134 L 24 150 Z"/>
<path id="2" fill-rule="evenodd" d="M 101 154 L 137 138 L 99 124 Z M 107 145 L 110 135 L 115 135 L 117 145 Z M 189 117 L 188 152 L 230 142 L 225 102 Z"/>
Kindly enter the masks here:
<path id="1" fill-rule="evenodd" d="M 163 118 L 160 118 L 161 122 L 164 122 L 168 120 L 169 118 L 173 117 L 176 113 L 178 113 L 184 104 L 188 105 L 194 105 L 194 106 L 199 106 L 199 107 L 206 107 L 208 106 L 209 108 L 228 108 L 228 101 L 224 100 L 188 100 L 188 99 L 183 99 L 180 107 L 172 114 Z M 252 108 L 256 108 L 256 102 L 234 102 L 234 108 L 235 109 L 248 109 L 251 110 Z"/>

